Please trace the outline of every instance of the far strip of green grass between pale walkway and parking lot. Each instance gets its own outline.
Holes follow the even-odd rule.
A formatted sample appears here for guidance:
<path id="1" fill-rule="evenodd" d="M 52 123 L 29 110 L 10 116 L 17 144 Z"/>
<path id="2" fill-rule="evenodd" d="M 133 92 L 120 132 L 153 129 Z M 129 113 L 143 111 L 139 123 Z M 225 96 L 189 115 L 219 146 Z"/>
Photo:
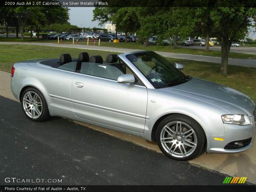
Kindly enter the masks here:
<path id="1" fill-rule="evenodd" d="M 19 41 L 22 42 L 20 38 L 4 38 L 0 37 L 0 42 L 3 41 Z M 57 40 L 49 40 L 49 39 L 37 39 L 37 38 L 24 38 L 24 42 L 37 42 L 38 43 L 57 43 Z M 70 44 L 71 41 L 64 40 L 63 44 Z M 79 44 L 86 45 L 87 40 L 79 41 Z M 89 45 L 93 45 L 92 41 L 89 41 Z M 98 46 L 98 43 L 97 43 Z M 145 47 L 143 44 L 137 42 L 137 43 L 110 43 L 110 42 L 101 42 L 100 46 L 104 47 L 116 47 L 116 48 L 126 48 L 126 49 L 139 49 L 139 50 L 152 50 L 152 51 L 161 51 L 161 52 L 173 52 L 173 53 L 185 53 L 185 54 L 193 54 L 193 55 L 205 55 L 205 56 L 212 56 L 212 57 L 221 57 L 220 51 L 210 51 L 210 52 L 204 52 L 204 50 L 201 49 L 188 49 L 184 47 L 178 47 L 178 49 L 173 49 L 171 46 L 157 46 L 157 45 L 150 45 Z M 196 45 L 193 45 L 196 46 Z M 246 54 L 246 53 L 235 53 L 230 52 L 229 58 L 234 59 L 256 59 L 256 54 Z"/>

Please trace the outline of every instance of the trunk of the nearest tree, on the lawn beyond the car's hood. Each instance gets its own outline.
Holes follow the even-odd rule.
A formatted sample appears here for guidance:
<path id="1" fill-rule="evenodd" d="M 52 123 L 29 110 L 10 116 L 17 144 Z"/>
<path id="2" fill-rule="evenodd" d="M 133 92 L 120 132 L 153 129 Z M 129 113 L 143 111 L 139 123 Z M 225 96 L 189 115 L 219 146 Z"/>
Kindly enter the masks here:
<path id="1" fill-rule="evenodd" d="M 228 36 L 221 37 L 221 63 L 220 73 L 226 75 L 228 73 L 228 55 L 232 41 L 228 40 Z"/>

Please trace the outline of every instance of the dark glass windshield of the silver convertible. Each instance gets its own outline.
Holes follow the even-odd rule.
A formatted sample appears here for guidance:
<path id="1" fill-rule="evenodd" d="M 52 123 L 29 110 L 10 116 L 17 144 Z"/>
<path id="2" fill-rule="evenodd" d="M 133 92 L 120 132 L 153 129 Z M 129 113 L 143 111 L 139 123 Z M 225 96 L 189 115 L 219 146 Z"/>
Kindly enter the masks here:
<path id="1" fill-rule="evenodd" d="M 134 53 L 126 57 L 155 88 L 187 82 L 185 75 L 173 63 L 155 52 Z"/>

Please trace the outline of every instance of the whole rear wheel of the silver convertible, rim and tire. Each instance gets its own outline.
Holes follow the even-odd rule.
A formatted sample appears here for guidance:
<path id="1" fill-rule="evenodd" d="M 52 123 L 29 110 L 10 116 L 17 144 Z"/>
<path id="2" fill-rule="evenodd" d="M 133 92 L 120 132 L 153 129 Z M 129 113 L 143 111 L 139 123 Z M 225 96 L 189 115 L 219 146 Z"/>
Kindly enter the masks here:
<path id="1" fill-rule="evenodd" d="M 21 107 L 24 114 L 33 121 L 44 121 L 50 118 L 48 106 L 43 94 L 34 87 L 22 92 Z M 27 109 L 27 110 L 26 110 Z"/>

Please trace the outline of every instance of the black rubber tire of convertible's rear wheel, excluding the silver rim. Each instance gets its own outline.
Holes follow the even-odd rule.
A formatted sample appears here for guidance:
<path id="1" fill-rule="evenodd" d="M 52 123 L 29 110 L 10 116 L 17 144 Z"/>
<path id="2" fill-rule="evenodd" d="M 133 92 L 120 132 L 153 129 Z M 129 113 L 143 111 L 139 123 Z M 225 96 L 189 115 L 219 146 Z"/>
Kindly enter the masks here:
<path id="1" fill-rule="evenodd" d="M 29 117 L 29 116 L 26 114 L 26 112 L 25 112 L 25 110 L 24 110 L 24 108 L 23 108 L 23 97 L 24 97 L 24 95 L 25 95 L 28 91 L 36 92 L 36 94 L 40 97 L 40 99 L 41 99 L 41 101 L 42 101 L 42 106 L 43 106 L 42 114 L 41 114 L 38 118 L 36 118 L 36 119 L 33 119 L 33 118 Z M 25 114 L 30 120 L 32 120 L 32 121 L 44 121 L 44 120 L 46 120 L 46 119 L 48 119 L 48 118 L 50 117 L 46 100 L 44 99 L 43 94 L 42 94 L 39 90 L 37 90 L 36 88 L 34 88 L 34 87 L 29 87 L 29 88 L 25 89 L 25 90 L 22 92 L 21 101 L 20 101 L 20 102 L 21 102 L 21 108 L 22 108 L 24 114 Z"/>

